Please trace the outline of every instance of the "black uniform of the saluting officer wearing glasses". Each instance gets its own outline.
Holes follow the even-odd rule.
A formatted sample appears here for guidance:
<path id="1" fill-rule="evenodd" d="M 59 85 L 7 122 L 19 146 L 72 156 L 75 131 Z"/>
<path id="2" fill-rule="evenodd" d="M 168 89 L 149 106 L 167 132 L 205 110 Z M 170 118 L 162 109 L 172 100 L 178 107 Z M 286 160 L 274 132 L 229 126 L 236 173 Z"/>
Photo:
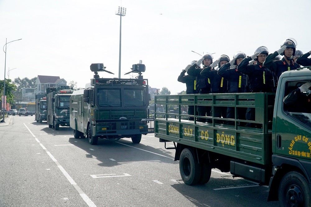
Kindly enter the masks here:
<path id="1" fill-rule="evenodd" d="M 238 71 L 248 75 L 249 89 L 251 93 L 272 93 L 273 92 L 273 77 L 272 72 L 262 66 L 259 62 L 256 65 L 248 65 L 252 58 L 244 58 L 238 66 Z M 247 108 L 246 120 L 255 121 L 255 108 Z M 253 126 L 251 123 L 246 123 L 246 127 Z"/>

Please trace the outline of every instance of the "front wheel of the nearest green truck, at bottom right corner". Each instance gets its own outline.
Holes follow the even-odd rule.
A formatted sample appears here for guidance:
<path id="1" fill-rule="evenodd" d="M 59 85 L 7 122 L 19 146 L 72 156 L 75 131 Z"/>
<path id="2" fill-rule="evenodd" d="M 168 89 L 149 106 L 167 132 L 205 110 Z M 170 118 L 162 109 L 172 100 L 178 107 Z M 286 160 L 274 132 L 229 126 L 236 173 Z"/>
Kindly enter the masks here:
<path id="1" fill-rule="evenodd" d="M 285 174 L 278 193 L 280 206 L 309 206 L 311 203 L 308 181 L 295 171 Z"/>

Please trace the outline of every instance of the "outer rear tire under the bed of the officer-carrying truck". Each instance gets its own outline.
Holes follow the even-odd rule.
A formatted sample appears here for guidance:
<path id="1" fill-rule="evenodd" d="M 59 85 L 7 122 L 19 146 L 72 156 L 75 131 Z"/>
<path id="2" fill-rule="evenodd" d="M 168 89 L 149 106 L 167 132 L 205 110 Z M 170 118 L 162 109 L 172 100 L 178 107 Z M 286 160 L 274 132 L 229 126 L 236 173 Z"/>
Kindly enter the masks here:
<path id="1" fill-rule="evenodd" d="M 189 186 L 196 185 L 200 179 L 201 166 L 190 148 L 185 148 L 179 157 L 179 171 L 183 182 Z"/>

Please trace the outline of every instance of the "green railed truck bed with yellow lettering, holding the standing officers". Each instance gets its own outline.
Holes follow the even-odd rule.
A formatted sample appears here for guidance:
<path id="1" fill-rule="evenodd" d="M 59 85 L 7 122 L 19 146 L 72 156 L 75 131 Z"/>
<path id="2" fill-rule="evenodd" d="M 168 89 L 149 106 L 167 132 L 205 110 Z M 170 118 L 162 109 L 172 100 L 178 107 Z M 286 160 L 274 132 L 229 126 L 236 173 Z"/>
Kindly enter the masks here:
<path id="1" fill-rule="evenodd" d="M 241 127 L 237 124 L 239 122 L 238 119 L 233 120 L 235 121 L 235 125 L 217 124 L 215 120 L 223 119 L 217 117 L 209 117 L 213 119 L 214 123 L 195 122 L 188 120 L 187 115 L 167 113 L 167 111 L 169 111 L 167 110 L 166 112 L 156 114 L 155 136 L 160 139 L 193 146 L 254 163 L 271 163 L 272 130 L 270 128 L 272 122 L 268 121 L 267 111 L 268 108 L 273 108 L 273 105 L 267 103 L 268 97 L 274 99 L 273 95 L 270 97 L 271 94 L 264 93 L 256 95 L 244 94 L 241 97 L 235 97 L 234 104 L 228 104 L 228 98 L 232 95 L 234 94 L 206 94 L 203 95 L 204 99 L 202 100 L 199 100 L 199 98 L 201 99 L 202 97 L 201 94 L 192 95 L 194 96 L 192 102 L 195 106 L 204 104 L 210 106 L 231 106 L 235 108 L 242 106 L 245 108 L 257 108 L 254 122 L 261 124 L 262 128 Z M 158 100 L 156 100 L 155 103 L 161 102 L 162 105 L 167 106 L 176 104 L 180 107 L 186 102 L 190 105 L 188 98 L 185 99 L 188 95 L 186 95 L 186 97 L 182 97 L 183 95 L 180 96 L 159 96 L 156 97 Z M 224 101 L 220 101 L 217 104 L 215 104 L 215 101 L 210 103 L 209 99 L 216 99 L 214 96 L 217 96 L 217 98 L 220 96 L 225 98 L 227 96 L 228 98 L 223 99 Z M 249 99 L 246 99 L 247 97 Z"/>

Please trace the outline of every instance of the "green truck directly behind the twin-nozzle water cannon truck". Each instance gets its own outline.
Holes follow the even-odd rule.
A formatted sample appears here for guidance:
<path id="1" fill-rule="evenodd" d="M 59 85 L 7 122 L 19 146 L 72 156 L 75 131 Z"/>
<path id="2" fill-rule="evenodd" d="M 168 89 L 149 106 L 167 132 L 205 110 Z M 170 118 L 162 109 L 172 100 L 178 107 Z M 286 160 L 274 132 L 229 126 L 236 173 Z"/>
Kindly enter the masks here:
<path id="1" fill-rule="evenodd" d="M 59 126 L 69 126 L 69 99 L 73 92 L 69 86 L 48 87 L 47 89 L 47 122 L 49 128 L 59 130 Z"/>

